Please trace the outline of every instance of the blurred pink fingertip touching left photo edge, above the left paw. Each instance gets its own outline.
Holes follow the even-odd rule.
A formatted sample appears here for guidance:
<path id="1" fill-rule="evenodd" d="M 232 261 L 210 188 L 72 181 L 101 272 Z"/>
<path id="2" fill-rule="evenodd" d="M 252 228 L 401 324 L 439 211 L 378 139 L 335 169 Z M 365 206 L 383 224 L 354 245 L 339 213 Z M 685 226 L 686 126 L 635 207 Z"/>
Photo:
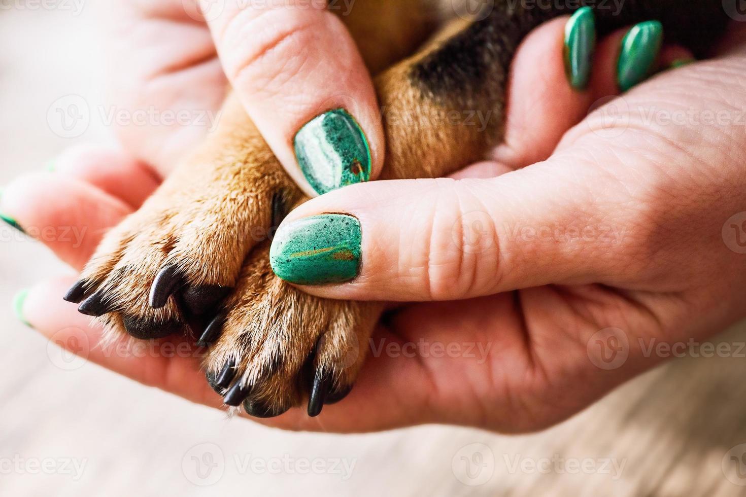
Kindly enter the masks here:
<path id="1" fill-rule="evenodd" d="M 104 232 L 132 209 L 90 184 L 59 174 L 30 174 L 4 189 L 0 212 L 80 270 Z"/>

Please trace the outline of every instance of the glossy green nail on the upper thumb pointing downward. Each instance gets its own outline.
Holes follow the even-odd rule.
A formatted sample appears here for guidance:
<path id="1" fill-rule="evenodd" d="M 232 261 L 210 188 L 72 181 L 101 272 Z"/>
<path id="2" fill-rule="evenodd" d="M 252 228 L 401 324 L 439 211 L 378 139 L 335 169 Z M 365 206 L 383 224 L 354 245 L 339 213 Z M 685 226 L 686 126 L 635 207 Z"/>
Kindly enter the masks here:
<path id="1" fill-rule="evenodd" d="M 294 146 L 301 171 L 319 194 L 370 179 L 368 140 L 344 109 L 313 118 L 295 135 Z"/>

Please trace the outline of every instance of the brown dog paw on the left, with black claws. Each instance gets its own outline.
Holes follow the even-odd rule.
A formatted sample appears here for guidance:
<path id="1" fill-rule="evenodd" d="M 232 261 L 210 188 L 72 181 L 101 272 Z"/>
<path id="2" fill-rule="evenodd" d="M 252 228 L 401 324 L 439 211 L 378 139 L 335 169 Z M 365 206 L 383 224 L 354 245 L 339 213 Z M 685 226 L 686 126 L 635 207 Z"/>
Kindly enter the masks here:
<path id="1" fill-rule="evenodd" d="M 185 325 L 201 333 L 247 254 L 299 197 L 263 142 L 233 156 L 195 156 L 104 236 L 65 299 L 134 338 Z"/>

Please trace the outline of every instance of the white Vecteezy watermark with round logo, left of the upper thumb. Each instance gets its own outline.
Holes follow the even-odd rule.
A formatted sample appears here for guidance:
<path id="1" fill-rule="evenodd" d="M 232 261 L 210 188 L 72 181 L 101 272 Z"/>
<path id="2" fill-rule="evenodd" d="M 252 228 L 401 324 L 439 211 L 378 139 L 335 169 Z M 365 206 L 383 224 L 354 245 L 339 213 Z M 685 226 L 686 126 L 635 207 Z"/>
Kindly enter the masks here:
<path id="1" fill-rule="evenodd" d="M 93 119 L 104 126 L 198 126 L 211 131 L 220 118 L 219 111 L 209 109 L 120 109 L 102 105 L 91 107 L 80 95 L 57 98 L 47 110 L 49 129 L 61 138 L 78 138 L 90 127 Z"/>

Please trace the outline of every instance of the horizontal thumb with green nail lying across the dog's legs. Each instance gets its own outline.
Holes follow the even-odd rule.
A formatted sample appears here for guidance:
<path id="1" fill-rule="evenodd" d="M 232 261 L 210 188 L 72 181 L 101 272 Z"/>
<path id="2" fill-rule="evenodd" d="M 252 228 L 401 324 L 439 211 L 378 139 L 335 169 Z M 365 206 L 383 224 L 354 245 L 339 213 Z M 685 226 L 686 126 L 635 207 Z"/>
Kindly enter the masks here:
<path id="1" fill-rule="evenodd" d="M 334 191 L 283 221 L 272 268 L 310 294 L 352 300 L 457 300 L 598 281 L 620 238 L 590 188 L 614 189 L 582 156 L 491 179 Z"/>

